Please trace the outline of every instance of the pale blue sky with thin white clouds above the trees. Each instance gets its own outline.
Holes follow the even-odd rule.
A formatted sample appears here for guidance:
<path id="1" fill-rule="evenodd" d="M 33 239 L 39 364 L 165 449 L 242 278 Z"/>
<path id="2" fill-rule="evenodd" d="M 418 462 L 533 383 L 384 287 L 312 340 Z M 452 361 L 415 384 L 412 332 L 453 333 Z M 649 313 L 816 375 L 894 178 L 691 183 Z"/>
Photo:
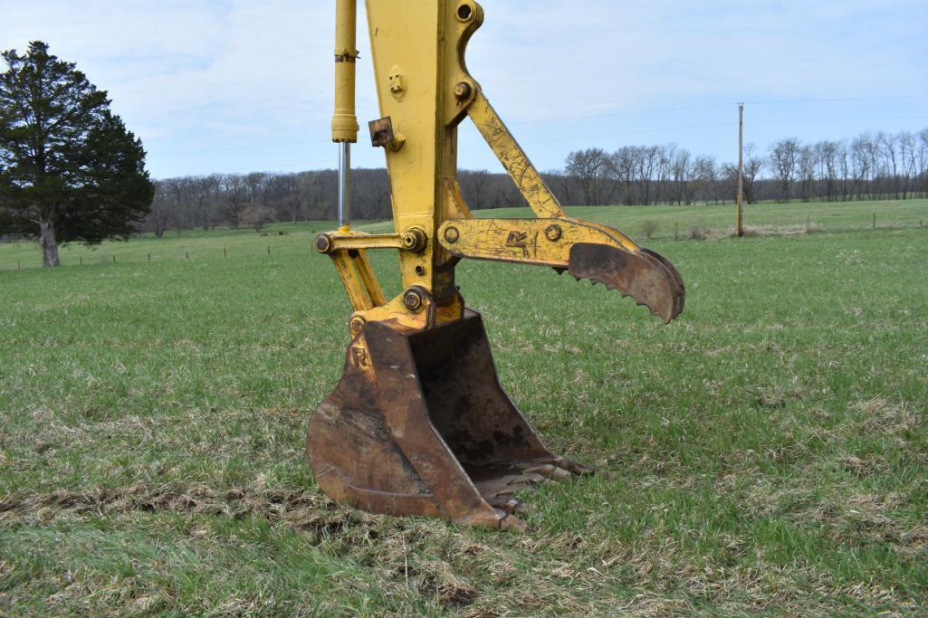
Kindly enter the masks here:
<path id="1" fill-rule="evenodd" d="M 925 0 L 481 4 L 468 69 L 541 170 L 580 148 L 671 142 L 737 161 L 741 101 L 761 151 L 928 127 Z M 142 138 L 155 178 L 334 168 L 334 5 L 0 0 L 0 49 L 38 39 L 76 62 Z M 359 13 L 364 127 L 380 113 Z M 382 167 L 360 137 L 354 166 Z M 459 141 L 460 168 L 502 171 L 467 121 Z"/>

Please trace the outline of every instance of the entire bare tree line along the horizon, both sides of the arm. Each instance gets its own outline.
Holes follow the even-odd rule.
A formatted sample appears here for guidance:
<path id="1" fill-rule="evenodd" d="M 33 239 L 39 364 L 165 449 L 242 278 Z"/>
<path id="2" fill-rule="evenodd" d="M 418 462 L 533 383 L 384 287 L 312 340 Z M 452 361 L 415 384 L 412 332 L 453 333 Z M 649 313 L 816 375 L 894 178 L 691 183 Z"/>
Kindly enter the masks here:
<path id="1" fill-rule="evenodd" d="M 738 165 L 697 155 L 675 144 L 624 146 L 614 152 L 586 148 L 568 154 L 564 169 L 542 174 L 565 204 L 703 204 L 735 199 Z M 461 171 L 471 208 L 524 206 L 506 174 Z M 386 170 L 352 174 L 352 216 L 391 216 Z M 864 133 L 804 144 L 780 139 L 760 151 L 744 149 L 744 200 L 879 200 L 928 197 L 928 128 L 912 133 Z M 273 221 L 330 220 L 336 216 L 335 170 L 297 174 L 251 173 L 179 176 L 155 181 L 145 231 Z"/>

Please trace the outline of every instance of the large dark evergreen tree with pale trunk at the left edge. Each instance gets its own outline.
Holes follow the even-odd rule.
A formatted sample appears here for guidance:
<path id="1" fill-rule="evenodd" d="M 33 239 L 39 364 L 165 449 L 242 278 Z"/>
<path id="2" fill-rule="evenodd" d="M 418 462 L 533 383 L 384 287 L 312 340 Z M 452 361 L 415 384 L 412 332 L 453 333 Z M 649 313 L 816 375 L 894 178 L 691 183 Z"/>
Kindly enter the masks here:
<path id="1" fill-rule="evenodd" d="M 58 265 L 58 243 L 128 238 L 154 196 L 141 140 L 45 43 L 3 59 L 0 234 L 38 238 L 44 266 Z"/>

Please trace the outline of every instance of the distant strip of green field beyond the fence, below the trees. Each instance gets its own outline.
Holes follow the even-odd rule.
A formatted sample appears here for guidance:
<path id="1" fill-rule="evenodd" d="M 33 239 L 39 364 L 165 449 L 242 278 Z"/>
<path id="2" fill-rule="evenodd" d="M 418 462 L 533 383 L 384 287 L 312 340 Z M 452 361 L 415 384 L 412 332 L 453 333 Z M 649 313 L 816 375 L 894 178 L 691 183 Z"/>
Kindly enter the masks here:
<path id="1" fill-rule="evenodd" d="M 633 238 L 690 238 L 694 228 L 718 237 L 733 233 L 734 206 L 617 206 L 569 208 L 574 216 L 615 225 Z M 535 216 L 527 208 L 499 208 L 476 211 L 481 217 Z M 791 202 L 747 204 L 744 225 L 749 235 L 788 235 L 806 231 L 869 230 L 876 214 L 877 229 L 926 227 L 928 200 L 883 200 L 854 202 Z M 158 262 L 163 260 L 214 260 L 273 255 L 296 258 L 312 246 L 320 231 L 334 227 L 331 222 L 266 225 L 261 234 L 250 227 L 168 231 L 163 238 L 147 234 L 131 242 L 104 242 L 98 247 L 80 244 L 60 248 L 63 265 Z M 393 221 L 354 222 L 355 229 L 372 233 L 393 231 Z M 42 254 L 35 242 L 21 240 L 0 243 L 0 270 L 37 268 Z"/>

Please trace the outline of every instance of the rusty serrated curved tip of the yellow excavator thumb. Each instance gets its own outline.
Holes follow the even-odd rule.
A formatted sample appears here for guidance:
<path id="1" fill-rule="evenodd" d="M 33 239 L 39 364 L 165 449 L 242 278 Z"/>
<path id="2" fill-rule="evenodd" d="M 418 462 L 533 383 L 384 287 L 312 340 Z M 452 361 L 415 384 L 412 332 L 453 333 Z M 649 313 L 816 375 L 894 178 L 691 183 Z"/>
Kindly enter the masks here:
<path id="1" fill-rule="evenodd" d="M 625 251 L 591 242 L 571 247 L 568 271 L 577 279 L 618 290 L 651 310 L 664 323 L 683 311 L 686 290 L 677 269 L 654 251 Z"/>

